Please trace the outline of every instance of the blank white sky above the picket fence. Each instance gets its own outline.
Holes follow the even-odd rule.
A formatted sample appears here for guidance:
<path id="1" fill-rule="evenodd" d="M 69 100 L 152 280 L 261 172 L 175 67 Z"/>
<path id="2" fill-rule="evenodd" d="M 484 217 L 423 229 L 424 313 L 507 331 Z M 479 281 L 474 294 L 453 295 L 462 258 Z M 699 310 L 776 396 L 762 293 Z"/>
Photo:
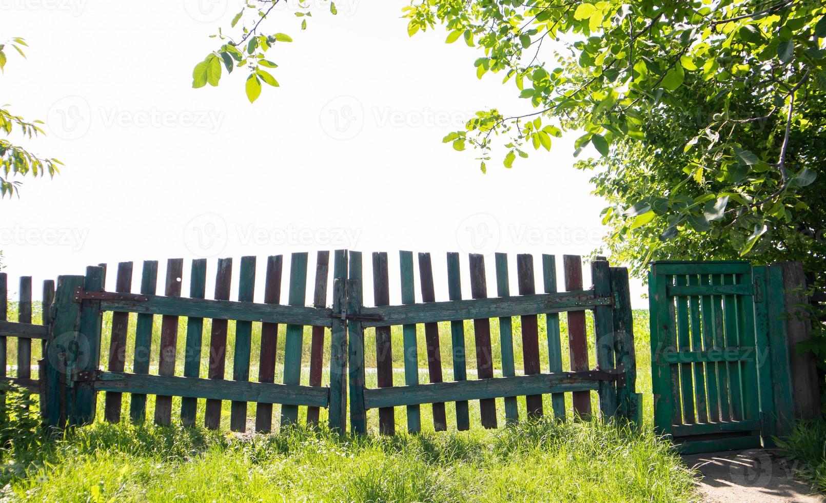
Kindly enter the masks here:
<path id="1" fill-rule="evenodd" d="M 47 122 L 45 139 L 13 138 L 66 164 L 0 201 L 10 290 L 32 275 L 39 298 L 43 279 L 102 262 L 114 289 L 124 260 L 135 261 L 136 289 L 140 261 L 161 260 L 163 278 L 169 257 L 206 256 L 214 279 L 216 257 L 234 257 L 237 278 L 237 259 L 254 254 L 261 277 L 269 254 L 349 248 L 364 252 L 368 282 L 369 253 L 389 252 L 397 303 L 397 250 L 411 249 L 434 254 L 444 300 L 446 251 L 514 254 L 516 292 L 516 253 L 536 254 L 541 286 L 539 254 L 557 254 L 561 271 L 562 254 L 599 246 L 604 202 L 589 193 L 591 173 L 572 168 L 576 133 L 510 170 L 496 151 L 482 175 L 472 151 L 441 139 L 476 110 L 529 111 L 513 83 L 478 80 L 477 51 L 445 45 L 442 28 L 409 38 L 404 1 L 336 4 L 338 16 L 316 9 L 306 31 L 289 9 L 268 21 L 295 42 L 268 52 L 282 87 L 250 104 L 244 69 L 191 88 L 192 67 L 216 48 L 208 36 L 229 26 L 238 0 L 0 0 L 0 39 L 31 46 L 28 59 L 7 50 L 0 102 Z M 487 268 L 493 295 L 492 255 Z"/>

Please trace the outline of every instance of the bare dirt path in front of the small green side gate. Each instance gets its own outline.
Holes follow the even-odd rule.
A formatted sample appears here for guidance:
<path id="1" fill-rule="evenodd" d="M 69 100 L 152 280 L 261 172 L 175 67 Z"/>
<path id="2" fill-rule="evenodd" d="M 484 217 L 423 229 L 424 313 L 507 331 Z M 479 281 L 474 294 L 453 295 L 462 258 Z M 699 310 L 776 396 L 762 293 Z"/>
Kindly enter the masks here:
<path id="1" fill-rule="evenodd" d="M 700 472 L 702 501 L 800 501 L 821 503 L 808 484 L 794 477 L 794 462 L 772 449 L 691 454 L 683 461 Z"/>

